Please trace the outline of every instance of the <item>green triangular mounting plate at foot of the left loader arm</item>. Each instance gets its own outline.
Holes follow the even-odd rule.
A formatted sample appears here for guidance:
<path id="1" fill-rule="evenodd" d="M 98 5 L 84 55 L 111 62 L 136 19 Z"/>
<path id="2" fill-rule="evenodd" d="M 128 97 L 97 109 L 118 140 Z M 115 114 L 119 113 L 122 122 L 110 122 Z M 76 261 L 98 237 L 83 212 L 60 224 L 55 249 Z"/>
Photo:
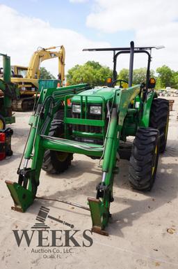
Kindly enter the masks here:
<path id="1" fill-rule="evenodd" d="M 15 206 L 12 206 L 11 209 L 19 212 L 25 212 L 26 209 L 33 204 L 34 196 L 32 192 L 25 189 L 17 182 L 11 182 L 9 180 L 6 180 L 5 182 L 15 204 Z"/>

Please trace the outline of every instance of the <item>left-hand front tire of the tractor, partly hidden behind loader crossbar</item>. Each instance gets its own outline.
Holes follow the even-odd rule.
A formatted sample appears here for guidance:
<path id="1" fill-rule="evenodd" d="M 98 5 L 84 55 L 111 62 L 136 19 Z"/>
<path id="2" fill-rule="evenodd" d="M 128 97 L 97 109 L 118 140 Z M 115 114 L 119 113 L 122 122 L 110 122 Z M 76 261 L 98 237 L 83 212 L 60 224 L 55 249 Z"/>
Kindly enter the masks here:
<path id="1" fill-rule="evenodd" d="M 51 123 L 49 136 L 63 138 L 64 124 L 60 119 L 54 119 Z M 73 154 L 68 152 L 58 152 L 56 150 L 46 150 L 42 169 L 50 174 L 62 173 L 71 165 Z"/>

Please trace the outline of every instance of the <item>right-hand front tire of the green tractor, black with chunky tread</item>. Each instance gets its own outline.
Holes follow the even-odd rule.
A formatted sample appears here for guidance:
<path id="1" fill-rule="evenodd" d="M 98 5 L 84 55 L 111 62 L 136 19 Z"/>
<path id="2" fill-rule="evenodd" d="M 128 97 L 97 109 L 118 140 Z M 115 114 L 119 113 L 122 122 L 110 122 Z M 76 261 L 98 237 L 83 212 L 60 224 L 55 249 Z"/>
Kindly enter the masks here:
<path id="1" fill-rule="evenodd" d="M 129 182 L 133 189 L 149 191 L 156 177 L 159 160 L 159 131 L 140 128 L 133 140 L 129 163 Z"/>

